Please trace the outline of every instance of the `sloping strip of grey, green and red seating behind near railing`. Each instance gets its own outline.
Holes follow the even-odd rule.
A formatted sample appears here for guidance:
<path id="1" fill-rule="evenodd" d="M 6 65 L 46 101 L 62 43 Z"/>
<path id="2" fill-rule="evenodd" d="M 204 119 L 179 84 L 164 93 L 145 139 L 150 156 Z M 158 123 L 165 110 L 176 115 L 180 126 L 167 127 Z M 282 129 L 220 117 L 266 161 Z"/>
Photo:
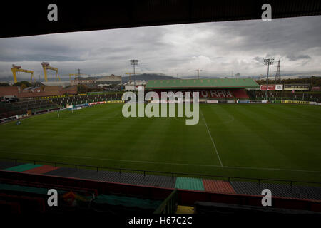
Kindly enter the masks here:
<path id="1" fill-rule="evenodd" d="M 16 164 L 15 162 L 0 162 L 0 170 L 44 174 L 56 177 L 72 177 L 104 182 L 120 182 L 126 185 L 143 185 L 183 190 L 197 190 L 203 192 L 217 192 L 225 194 L 260 195 L 268 188 L 277 197 L 291 197 L 297 199 L 321 200 L 321 187 L 301 186 L 264 182 L 224 181 L 175 177 L 164 175 L 150 175 L 136 172 L 116 172 L 107 170 L 79 169 L 75 167 L 56 167 L 50 165 L 35 165 L 32 163 Z"/>

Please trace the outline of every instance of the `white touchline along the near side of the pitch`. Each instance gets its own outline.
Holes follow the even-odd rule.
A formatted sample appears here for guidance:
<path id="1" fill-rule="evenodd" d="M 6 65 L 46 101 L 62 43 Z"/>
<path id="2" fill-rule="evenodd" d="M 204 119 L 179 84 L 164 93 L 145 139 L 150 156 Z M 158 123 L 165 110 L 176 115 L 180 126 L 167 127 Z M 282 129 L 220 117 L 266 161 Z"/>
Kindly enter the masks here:
<path id="1" fill-rule="evenodd" d="M 80 159 L 91 159 L 91 160 L 111 160 L 118 162 L 137 162 L 137 163 L 149 163 L 149 164 L 159 164 L 159 165 L 186 165 L 186 166 L 200 166 L 200 167 L 219 167 L 223 169 L 245 169 L 245 170 L 274 170 L 274 171 L 291 171 L 291 172 L 317 172 L 321 171 L 316 170 L 290 170 L 290 169 L 278 169 L 278 168 L 264 168 L 264 167 L 242 167 L 242 166 L 220 166 L 220 165 L 199 165 L 199 164 L 182 164 L 182 163 L 169 163 L 169 162 L 150 162 L 150 161 L 137 161 L 137 160 L 120 160 L 112 158 L 101 158 L 101 157 L 84 157 L 84 156 L 71 156 L 71 155 L 43 155 L 29 152 L 3 152 L 6 154 L 17 154 L 17 155 L 41 155 L 45 157 L 71 157 L 71 158 L 80 158 Z"/>

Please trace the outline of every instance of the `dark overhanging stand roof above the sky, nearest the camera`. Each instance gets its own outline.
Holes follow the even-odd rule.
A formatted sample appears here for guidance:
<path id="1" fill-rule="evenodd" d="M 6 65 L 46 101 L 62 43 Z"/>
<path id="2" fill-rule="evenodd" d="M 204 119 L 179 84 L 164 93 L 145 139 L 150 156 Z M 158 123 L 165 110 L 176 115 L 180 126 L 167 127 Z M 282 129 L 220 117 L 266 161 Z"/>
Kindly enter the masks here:
<path id="1" fill-rule="evenodd" d="M 321 14 L 320 0 L 123 0 L 100 1 L 99 4 L 79 1 L 77 6 L 73 1 L 59 1 L 58 7 L 63 11 L 59 11 L 58 21 L 50 23 L 44 19 L 44 14 L 39 14 L 46 11 L 44 5 L 31 5 L 29 1 L 21 1 L 19 7 L 16 7 L 16 1 L 6 1 L 6 9 L 14 9 L 15 16 L 12 16 L 10 10 L 1 11 L 0 37 L 261 19 L 265 3 L 272 6 L 272 19 Z M 61 15 L 63 19 L 60 18 Z"/>

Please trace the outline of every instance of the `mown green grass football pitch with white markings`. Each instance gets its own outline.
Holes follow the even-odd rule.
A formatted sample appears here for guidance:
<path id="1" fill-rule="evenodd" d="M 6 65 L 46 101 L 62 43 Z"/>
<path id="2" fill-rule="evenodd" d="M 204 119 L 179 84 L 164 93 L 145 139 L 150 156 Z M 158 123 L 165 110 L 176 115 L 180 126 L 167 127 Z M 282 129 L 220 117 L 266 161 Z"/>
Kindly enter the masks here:
<path id="1" fill-rule="evenodd" d="M 124 118 L 122 104 L 0 125 L 0 157 L 321 182 L 321 107 L 203 104 L 184 118 Z"/>

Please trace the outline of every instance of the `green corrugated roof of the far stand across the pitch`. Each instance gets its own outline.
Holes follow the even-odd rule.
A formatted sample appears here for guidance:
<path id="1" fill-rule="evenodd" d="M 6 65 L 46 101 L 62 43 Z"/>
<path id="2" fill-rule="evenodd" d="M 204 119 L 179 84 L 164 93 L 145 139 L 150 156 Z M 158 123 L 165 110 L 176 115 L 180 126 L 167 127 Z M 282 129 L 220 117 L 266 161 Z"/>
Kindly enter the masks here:
<path id="1" fill-rule="evenodd" d="M 257 88 L 252 78 L 202 78 L 150 80 L 146 89 L 183 89 L 183 88 Z"/>

